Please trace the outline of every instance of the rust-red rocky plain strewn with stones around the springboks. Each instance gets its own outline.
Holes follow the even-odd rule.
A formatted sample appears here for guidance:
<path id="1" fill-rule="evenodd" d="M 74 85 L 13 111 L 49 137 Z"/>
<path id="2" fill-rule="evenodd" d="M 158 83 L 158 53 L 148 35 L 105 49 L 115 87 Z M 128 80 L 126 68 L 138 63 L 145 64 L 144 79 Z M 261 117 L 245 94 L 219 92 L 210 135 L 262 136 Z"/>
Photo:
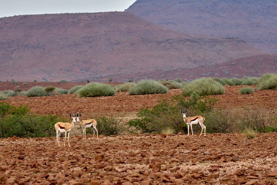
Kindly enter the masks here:
<path id="1" fill-rule="evenodd" d="M 226 87 L 224 95 L 216 96 L 215 108 L 236 113 L 248 108 L 276 112 L 277 90 L 240 95 L 240 88 Z M 177 89 L 167 94 L 116 93 L 94 98 L 17 96 L 5 101 L 27 104 L 38 114 L 67 116 L 76 111 L 83 118 L 135 117 L 140 108 L 180 93 Z M 61 147 L 55 137 L 0 139 L 0 184 L 277 184 L 276 132 L 257 134 L 252 140 L 241 133 L 100 135 L 83 140 L 76 132 L 78 127 L 71 131 L 70 148 L 67 142 L 63 146 L 63 138 Z"/>

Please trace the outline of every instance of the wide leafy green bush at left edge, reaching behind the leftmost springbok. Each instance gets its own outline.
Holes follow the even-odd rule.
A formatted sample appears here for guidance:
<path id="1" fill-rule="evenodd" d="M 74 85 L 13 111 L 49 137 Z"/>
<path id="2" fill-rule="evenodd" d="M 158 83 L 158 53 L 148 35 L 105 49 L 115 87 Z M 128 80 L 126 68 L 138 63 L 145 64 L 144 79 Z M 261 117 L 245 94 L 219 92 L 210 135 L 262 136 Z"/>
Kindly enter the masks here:
<path id="1" fill-rule="evenodd" d="M 37 116 L 29 113 L 28 106 L 14 107 L 0 103 L 0 138 L 53 137 L 56 136 L 54 124 L 64 119 L 55 115 Z"/>

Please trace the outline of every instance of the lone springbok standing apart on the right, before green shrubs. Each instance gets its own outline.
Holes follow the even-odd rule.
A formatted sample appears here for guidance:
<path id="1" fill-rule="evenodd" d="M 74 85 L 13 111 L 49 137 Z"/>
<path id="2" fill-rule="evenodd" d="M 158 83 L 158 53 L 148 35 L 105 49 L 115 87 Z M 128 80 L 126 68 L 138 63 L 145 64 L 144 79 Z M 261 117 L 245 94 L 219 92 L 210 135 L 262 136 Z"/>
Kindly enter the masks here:
<path id="1" fill-rule="evenodd" d="M 193 135 L 193 131 L 192 131 L 192 124 L 200 124 L 202 131 L 200 136 L 202 135 L 203 129 L 204 129 L 204 136 L 206 136 L 206 126 L 203 124 L 203 122 L 205 121 L 205 118 L 203 116 L 192 116 L 192 117 L 187 117 L 187 111 L 185 113 L 182 112 L 182 110 L 180 110 L 182 115 L 183 115 L 183 119 L 185 121 L 185 123 L 187 124 L 187 136 L 190 135 L 190 128 L 191 128 L 191 132 Z"/>

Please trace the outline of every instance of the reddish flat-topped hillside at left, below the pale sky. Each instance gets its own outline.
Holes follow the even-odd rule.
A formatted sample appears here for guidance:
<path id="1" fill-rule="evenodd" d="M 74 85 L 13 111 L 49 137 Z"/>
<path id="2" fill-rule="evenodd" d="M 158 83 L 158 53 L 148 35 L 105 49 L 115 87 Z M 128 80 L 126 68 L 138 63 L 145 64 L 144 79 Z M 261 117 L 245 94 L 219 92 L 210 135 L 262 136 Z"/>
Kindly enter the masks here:
<path id="1" fill-rule="evenodd" d="M 240 39 L 189 35 L 126 12 L 0 18 L 2 81 L 122 82 L 264 53 Z"/>

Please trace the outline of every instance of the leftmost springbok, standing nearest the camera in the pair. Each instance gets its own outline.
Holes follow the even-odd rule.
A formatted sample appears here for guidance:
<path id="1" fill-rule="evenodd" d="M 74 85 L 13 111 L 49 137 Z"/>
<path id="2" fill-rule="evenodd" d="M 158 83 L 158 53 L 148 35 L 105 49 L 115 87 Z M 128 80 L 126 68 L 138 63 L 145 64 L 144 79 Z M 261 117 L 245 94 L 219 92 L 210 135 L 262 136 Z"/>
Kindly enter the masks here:
<path id="1" fill-rule="evenodd" d="M 60 147 L 60 134 L 61 133 L 64 133 L 64 146 L 65 146 L 66 135 L 68 133 L 68 146 L 70 147 L 69 134 L 70 134 L 71 129 L 74 127 L 74 125 L 76 123 L 76 114 L 74 115 L 74 117 L 72 117 L 71 114 L 69 113 L 69 116 L 72 118 L 71 123 L 58 122 L 55 124 L 56 138 L 57 138 L 59 147 Z"/>

